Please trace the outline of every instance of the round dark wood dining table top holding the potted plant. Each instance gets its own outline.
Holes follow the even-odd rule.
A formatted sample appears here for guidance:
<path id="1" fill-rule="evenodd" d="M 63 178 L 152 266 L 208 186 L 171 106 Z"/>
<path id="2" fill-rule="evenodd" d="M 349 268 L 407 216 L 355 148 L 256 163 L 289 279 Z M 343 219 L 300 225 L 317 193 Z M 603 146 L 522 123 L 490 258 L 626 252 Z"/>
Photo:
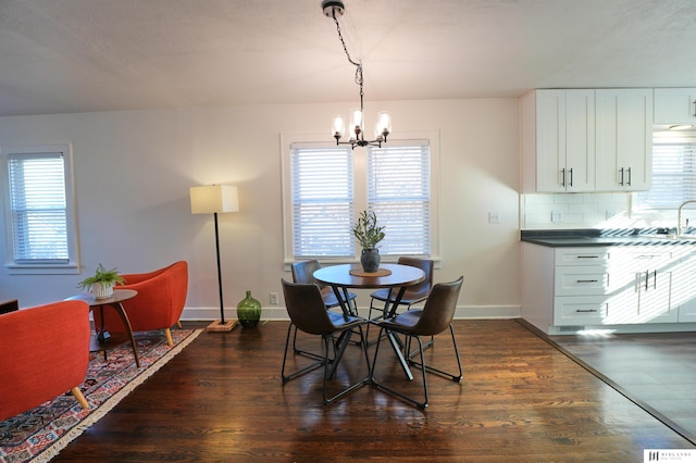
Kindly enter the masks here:
<path id="1" fill-rule="evenodd" d="M 352 268 L 361 268 L 361 266 L 360 264 L 328 265 L 315 271 L 314 278 L 326 285 L 343 288 L 395 288 L 417 285 L 425 279 L 425 272 L 410 265 L 381 264 L 381 270 L 391 272 L 384 276 L 351 275 Z"/>

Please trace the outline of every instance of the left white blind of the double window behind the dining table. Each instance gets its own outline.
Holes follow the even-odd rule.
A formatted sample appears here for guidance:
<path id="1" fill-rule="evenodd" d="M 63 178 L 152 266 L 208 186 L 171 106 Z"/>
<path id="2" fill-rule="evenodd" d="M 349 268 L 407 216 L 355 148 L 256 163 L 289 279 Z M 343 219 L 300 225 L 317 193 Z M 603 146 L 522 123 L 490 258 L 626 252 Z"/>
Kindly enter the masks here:
<path id="1" fill-rule="evenodd" d="M 295 145 L 290 157 L 294 255 L 352 256 L 351 150 Z"/>

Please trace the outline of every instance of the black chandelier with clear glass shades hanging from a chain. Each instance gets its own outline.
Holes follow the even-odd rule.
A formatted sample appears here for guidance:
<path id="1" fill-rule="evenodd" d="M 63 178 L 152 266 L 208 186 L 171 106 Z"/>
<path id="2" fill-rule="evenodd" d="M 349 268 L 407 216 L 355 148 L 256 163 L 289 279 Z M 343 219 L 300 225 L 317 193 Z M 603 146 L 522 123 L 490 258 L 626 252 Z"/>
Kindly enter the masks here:
<path id="1" fill-rule="evenodd" d="M 324 11 L 324 15 L 327 17 L 332 17 L 334 23 L 336 23 L 336 30 L 338 32 L 338 38 L 340 39 L 340 43 L 344 46 L 344 51 L 346 52 L 346 57 L 350 64 L 356 66 L 356 84 L 360 86 L 360 108 L 350 110 L 350 138 L 348 141 L 340 141 L 340 139 L 346 135 L 346 124 L 341 116 L 334 117 L 334 124 L 332 129 L 332 135 L 336 139 L 336 145 L 350 145 L 352 149 L 356 147 L 382 147 L 382 143 L 387 141 L 387 136 L 391 132 L 391 118 L 389 117 L 389 113 L 386 111 L 381 111 L 377 113 L 377 122 L 374 127 L 374 140 L 365 140 L 364 139 L 364 118 L 363 118 L 363 91 L 362 91 L 362 62 L 356 62 L 350 58 L 350 53 L 348 52 L 348 48 L 346 47 L 346 41 L 344 40 L 344 36 L 340 32 L 340 24 L 338 24 L 337 16 L 343 16 L 346 7 L 344 2 L 340 0 L 324 0 L 322 1 L 322 10 Z"/>

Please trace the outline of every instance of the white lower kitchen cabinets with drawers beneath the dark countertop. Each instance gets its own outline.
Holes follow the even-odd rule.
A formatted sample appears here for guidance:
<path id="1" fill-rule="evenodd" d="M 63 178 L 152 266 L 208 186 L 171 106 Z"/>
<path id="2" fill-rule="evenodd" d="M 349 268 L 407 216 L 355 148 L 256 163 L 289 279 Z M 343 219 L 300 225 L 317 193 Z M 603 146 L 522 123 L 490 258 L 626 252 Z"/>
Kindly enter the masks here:
<path id="1" fill-rule="evenodd" d="M 522 317 L 549 334 L 696 322 L 696 252 L 522 242 Z"/>

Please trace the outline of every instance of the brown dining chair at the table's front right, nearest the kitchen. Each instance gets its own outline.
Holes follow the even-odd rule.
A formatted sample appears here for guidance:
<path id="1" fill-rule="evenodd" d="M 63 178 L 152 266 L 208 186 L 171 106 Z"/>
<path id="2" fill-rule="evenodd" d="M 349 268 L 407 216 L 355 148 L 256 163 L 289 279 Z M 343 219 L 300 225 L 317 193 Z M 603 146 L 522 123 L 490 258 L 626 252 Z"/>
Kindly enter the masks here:
<path id="1" fill-rule="evenodd" d="M 430 296 L 425 301 L 423 309 L 413 309 L 403 312 L 402 314 L 394 317 L 382 320 L 376 322 L 380 326 L 380 336 L 377 337 L 377 345 L 374 352 L 374 360 L 370 370 L 370 378 L 372 384 L 377 388 L 386 392 L 395 395 L 409 403 L 417 405 L 420 409 L 427 406 L 427 378 L 426 372 L 437 373 L 442 376 L 451 378 L 456 383 L 461 383 L 462 370 L 461 361 L 459 359 L 459 350 L 457 348 L 457 340 L 455 339 L 455 329 L 452 328 L 452 318 L 457 309 L 457 299 L 464 278 L 460 276 L 459 279 L 451 283 L 438 283 L 431 290 Z M 459 374 L 452 374 L 443 370 L 436 368 L 425 364 L 425 358 L 423 355 L 423 342 L 422 336 L 435 336 L 449 328 L 449 333 L 452 338 L 452 346 L 455 348 L 455 356 L 457 358 L 457 365 L 459 367 Z M 382 343 L 383 334 L 385 331 L 398 333 L 406 336 L 407 360 L 409 365 L 415 366 L 421 370 L 423 376 L 423 393 L 424 400 L 419 402 L 418 400 L 408 397 L 407 395 L 397 391 L 394 387 L 387 387 L 383 383 L 375 380 L 374 372 L 377 364 L 377 354 L 380 352 L 380 345 Z M 418 341 L 418 349 L 413 352 L 411 349 L 411 341 L 415 339 Z M 431 350 L 432 352 L 432 350 Z M 420 355 L 420 362 L 414 361 L 412 358 L 417 354 Z"/>

